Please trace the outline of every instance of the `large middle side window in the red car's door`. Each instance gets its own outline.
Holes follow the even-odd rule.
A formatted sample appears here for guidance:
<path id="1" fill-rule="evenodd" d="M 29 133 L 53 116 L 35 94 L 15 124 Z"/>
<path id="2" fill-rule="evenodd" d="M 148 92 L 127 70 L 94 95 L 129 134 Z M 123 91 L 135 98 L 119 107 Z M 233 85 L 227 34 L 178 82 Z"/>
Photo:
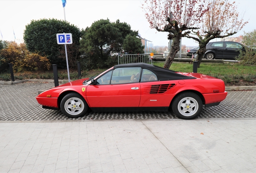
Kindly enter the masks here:
<path id="1" fill-rule="evenodd" d="M 115 68 L 113 70 L 111 84 L 139 82 L 140 70 L 140 67 Z"/>

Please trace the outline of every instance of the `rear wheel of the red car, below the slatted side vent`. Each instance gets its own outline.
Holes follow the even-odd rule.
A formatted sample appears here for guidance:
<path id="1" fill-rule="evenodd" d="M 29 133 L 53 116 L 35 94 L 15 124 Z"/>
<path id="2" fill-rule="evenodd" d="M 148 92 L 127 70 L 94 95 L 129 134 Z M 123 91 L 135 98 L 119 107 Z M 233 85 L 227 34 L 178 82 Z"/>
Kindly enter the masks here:
<path id="1" fill-rule="evenodd" d="M 175 97 L 171 109 L 180 119 L 194 119 L 202 112 L 202 100 L 195 93 L 184 92 Z"/>

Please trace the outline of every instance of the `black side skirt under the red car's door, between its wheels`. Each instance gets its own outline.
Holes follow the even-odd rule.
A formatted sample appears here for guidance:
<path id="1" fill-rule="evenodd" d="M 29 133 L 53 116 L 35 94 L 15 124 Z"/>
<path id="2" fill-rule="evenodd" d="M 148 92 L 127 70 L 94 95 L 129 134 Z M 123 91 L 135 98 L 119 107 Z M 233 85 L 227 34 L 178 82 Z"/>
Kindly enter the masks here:
<path id="1" fill-rule="evenodd" d="M 91 107 L 94 112 L 168 111 L 169 107 Z"/>

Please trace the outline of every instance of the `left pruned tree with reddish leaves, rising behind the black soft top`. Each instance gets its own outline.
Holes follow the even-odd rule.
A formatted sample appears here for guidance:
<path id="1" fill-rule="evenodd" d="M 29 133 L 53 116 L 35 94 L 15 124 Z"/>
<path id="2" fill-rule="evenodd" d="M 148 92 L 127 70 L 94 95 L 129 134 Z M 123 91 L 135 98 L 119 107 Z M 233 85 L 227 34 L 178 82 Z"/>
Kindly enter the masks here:
<path id="1" fill-rule="evenodd" d="M 151 28 L 159 32 L 169 32 L 168 39 L 173 40 L 164 68 L 170 68 L 175 54 L 180 50 L 180 38 L 187 36 L 190 30 L 198 29 L 197 23 L 209 10 L 206 0 L 145 0 L 142 8 Z"/>

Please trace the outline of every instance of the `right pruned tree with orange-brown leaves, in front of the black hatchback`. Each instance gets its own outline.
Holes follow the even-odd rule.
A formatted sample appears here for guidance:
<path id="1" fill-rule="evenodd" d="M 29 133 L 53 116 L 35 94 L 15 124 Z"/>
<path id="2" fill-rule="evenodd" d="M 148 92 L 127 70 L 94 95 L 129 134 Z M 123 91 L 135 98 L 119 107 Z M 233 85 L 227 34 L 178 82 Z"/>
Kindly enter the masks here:
<path id="1" fill-rule="evenodd" d="M 196 60 L 198 67 L 206 52 L 206 45 L 214 38 L 224 38 L 236 34 L 248 22 L 239 16 L 235 2 L 230 0 L 208 0 L 209 10 L 202 15 L 202 23 L 197 26 L 200 30 L 192 30 L 187 38 L 192 38 L 199 43 Z"/>

